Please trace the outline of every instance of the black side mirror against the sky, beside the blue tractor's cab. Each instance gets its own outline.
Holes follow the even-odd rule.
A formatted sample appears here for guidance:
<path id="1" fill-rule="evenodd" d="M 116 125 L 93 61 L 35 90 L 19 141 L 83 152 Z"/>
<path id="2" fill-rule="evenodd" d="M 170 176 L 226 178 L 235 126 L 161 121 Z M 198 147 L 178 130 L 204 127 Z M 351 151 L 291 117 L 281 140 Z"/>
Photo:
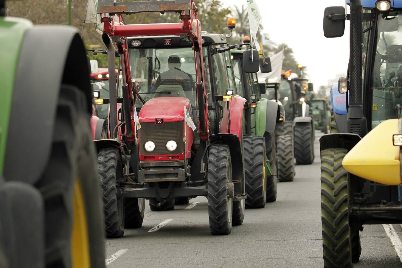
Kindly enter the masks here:
<path id="1" fill-rule="evenodd" d="M 324 11 L 324 36 L 341 37 L 345 33 L 345 7 L 328 6 Z"/>

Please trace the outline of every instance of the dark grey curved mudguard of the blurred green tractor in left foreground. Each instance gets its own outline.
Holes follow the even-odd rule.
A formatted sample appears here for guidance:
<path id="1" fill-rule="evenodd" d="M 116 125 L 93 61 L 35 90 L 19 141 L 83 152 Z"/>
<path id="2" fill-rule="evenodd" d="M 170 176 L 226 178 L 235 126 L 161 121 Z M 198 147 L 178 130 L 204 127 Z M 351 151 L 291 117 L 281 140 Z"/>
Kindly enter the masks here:
<path id="1" fill-rule="evenodd" d="M 16 73 L 4 177 L 34 184 L 49 158 L 60 85 L 85 92 L 88 124 L 92 114 L 90 72 L 76 29 L 35 26 L 27 30 Z"/>

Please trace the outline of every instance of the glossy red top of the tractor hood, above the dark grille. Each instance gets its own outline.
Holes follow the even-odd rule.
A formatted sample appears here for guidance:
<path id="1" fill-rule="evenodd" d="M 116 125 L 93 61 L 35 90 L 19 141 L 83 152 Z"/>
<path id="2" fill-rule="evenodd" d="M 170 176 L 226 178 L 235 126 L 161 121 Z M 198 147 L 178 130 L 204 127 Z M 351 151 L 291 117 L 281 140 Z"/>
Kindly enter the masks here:
<path id="1" fill-rule="evenodd" d="M 177 122 L 184 120 L 184 106 L 191 108 L 188 98 L 158 97 L 148 100 L 142 106 L 138 119 L 140 122 L 155 122 L 162 118 L 164 122 Z"/>

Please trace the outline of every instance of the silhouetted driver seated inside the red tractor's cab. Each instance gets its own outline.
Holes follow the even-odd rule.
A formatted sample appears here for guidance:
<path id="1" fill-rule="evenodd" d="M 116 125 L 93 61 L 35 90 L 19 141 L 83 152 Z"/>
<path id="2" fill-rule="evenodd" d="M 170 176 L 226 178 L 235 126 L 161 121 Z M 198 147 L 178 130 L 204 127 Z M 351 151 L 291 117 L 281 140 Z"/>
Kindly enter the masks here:
<path id="1" fill-rule="evenodd" d="M 177 55 L 170 55 L 168 58 L 168 70 L 159 75 L 152 91 L 156 92 L 160 85 L 180 84 L 184 91 L 193 91 L 194 80 L 191 74 L 180 70 L 181 61 Z"/>

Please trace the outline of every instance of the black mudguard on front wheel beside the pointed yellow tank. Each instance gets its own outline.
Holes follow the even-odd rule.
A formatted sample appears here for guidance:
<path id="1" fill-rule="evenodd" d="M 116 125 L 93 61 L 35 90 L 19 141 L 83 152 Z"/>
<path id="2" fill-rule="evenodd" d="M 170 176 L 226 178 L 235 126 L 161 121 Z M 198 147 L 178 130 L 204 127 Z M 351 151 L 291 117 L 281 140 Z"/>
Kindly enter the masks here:
<path id="1" fill-rule="evenodd" d="M 350 151 L 361 137 L 351 133 L 326 134 L 320 138 L 320 151 L 330 148 L 345 148 Z"/>

